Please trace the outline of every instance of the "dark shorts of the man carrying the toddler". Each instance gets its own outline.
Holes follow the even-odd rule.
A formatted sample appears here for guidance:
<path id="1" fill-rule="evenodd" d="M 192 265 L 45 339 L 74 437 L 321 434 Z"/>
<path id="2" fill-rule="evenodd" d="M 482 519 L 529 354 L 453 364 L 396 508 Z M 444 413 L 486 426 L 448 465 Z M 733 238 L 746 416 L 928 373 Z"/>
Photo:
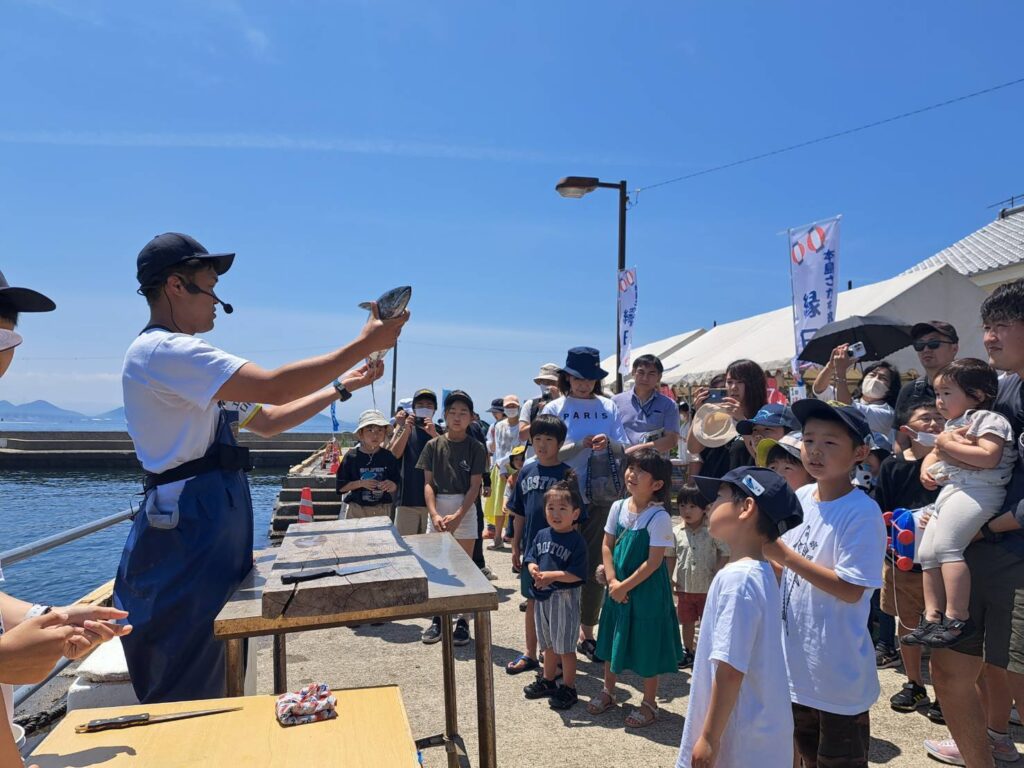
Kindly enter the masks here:
<path id="1" fill-rule="evenodd" d="M 1024 674 L 1024 558 L 997 544 L 976 542 L 964 559 L 971 571 L 971 618 L 977 631 L 952 650 Z"/>

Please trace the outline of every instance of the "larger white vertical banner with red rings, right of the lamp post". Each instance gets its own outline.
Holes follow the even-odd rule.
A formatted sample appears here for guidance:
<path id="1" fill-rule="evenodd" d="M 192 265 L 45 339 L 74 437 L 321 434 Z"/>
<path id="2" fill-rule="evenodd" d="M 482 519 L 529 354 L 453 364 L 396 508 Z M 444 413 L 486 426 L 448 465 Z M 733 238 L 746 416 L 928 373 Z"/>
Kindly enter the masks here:
<path id="1" fill-rule="evenodd" d="M 798 383 L 799 357 L 818 329 L 836 319 L 839 295 L 839 224 L 842 216 L 788 230 L 793 282 L 793 331 L 797 353 L 793 375 Z"/>

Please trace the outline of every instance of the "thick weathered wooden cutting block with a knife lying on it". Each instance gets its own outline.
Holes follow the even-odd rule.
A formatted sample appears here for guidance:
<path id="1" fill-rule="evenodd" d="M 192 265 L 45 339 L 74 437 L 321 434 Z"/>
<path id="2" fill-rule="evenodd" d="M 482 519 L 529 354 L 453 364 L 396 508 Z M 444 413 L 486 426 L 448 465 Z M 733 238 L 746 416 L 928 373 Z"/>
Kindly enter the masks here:
<path id="1" fill-rule="evenodd" d="M 286 573 L 368 564 L 382 567 L 297 585 L 281 581 Z M 263 616 L 358 613 L 426 599 L 427 575 L 388 518 L 294 523 L 263 586 Z"/>

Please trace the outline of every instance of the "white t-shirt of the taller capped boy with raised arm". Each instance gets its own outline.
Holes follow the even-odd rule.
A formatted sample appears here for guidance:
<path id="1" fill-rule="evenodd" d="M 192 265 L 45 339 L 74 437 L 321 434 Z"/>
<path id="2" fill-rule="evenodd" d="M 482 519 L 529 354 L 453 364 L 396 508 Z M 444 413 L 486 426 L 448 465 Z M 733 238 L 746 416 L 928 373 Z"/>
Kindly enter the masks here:
<path id="1" fill-rule="evenodd" d="M 874 649 L 867 631 L 871 592 L 882 587 L 886 525 L 882 510 L 859 488 L 834 502 L 815 498 L 817 484 L 797 498 L 804 521 L 782 541 L 811 562 L 864 587 L 847 603 L 782 571 L 782 648 L 790 694 L 805 707 L 836 715 L 859 715 L 879 697 Z M 706 611 L 707 614 L 707 611 Z"/>

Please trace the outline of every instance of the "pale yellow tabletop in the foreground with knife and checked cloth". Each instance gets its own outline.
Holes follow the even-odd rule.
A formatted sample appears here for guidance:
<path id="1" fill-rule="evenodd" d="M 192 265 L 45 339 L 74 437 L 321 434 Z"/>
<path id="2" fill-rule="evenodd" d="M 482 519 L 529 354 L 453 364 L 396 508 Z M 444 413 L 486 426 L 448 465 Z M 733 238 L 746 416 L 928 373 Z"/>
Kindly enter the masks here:
<path id="1" fill-rule="evenodd" d="M 284 728 L 274 696 L 217 698 L 72 712 L 28 759 L 39 768 L 102 765 L 103 768 L 210 768 L 211 766 L 343 765 L 346 768 L 416 768 L 416 744 L 398 687 L 335 691 L 338 717 Z M 75 733 L 98 718 L 139 712 L 164 715 L 242 707 L 194 720 L 155 723 L 99 733 Z"/>

